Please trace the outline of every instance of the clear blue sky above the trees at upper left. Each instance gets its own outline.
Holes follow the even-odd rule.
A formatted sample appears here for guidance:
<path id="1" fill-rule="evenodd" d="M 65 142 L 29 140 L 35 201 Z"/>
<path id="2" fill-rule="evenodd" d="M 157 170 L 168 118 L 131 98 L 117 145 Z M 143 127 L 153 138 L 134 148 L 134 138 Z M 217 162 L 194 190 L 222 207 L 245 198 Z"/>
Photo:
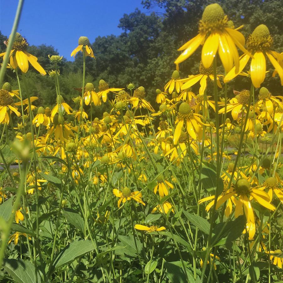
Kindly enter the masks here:
<path id="1" fill-rule="evenodd" d="M 11 33 L 17 0 L 0 0 L 0 30 Z M 139 8 L 141 0 L 25 0 L 18 31 L 30 45 L 52 45 L 68 60 L 79 36 L 119 35 L 119 19 Z"/>

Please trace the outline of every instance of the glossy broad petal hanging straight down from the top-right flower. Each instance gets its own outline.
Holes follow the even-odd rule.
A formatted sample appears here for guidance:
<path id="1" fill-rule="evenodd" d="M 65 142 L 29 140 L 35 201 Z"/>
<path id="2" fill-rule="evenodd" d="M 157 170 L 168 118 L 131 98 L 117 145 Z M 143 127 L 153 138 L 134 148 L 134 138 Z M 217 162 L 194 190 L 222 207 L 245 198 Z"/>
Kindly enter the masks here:
<path id="1" fill-rule="evenodd" d="M 253 85 L 257 88 L 265 79 L 266 62 L 262 52 L 255 52 L 251 63 L 251 79 Z"/>

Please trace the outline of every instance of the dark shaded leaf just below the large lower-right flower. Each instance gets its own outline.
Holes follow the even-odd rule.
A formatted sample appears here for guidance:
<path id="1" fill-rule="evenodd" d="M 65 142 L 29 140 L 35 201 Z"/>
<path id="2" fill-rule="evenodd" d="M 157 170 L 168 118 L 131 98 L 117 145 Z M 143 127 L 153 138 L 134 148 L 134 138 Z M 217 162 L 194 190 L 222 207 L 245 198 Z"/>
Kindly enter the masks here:
<path id="1" fill-rule="evenodd" d="M 212 231 L 212 246 L 225 245 L 236 240 L 242 235 L 245 224 L 246 218 L 243 215 L 236 220 L 216 224 Z M 223 227 L 224 230 L 221 232 Z"/>

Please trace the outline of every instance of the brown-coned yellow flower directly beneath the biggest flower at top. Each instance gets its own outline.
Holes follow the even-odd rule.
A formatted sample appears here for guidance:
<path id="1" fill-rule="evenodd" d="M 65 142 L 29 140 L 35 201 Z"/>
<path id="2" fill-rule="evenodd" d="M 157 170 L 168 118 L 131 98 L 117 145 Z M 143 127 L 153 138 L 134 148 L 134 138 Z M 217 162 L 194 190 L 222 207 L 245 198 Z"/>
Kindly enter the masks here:
<path id="1" fill-rule="evenodd" d="M 218 87 L 222 88 L 222 85 L 219 80 L 220 76 L 222 75 L 217 75 L 217 85 Z M 203 63 L 200 61 L 198 75 L 192 75 L 186 79 L 180 80 L 181 82 L 184 83 L 181 87 L 181 90 L 188 89 L 194 84 L 196 84 L 197 82 L 200 82 L 199 94 L 203 95 L 204 90 L 206 89 L 206 86 L 207 86 L 208 79 L 210 79 L 211 81 L 214 81 L 213 66 L 211 65 L 209 68 L 205 68 Z"/>

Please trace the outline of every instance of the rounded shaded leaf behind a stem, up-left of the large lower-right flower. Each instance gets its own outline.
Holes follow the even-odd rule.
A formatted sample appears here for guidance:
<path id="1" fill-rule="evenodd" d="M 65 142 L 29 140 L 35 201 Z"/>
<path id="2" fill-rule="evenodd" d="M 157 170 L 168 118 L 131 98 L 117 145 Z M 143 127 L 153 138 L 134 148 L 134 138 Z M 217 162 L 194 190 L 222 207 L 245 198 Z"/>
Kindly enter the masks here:
<path id="1" fill-rule="evenodd" d="M 216 193 L 216 170 L 213 165 L 211 165 L 210 163 L 205 163 L 205 165 L 202 166 L 200 179 L 205 190 L 207 190 L 209 193 Z M 223 188 L 223 181 L 221 178 L 219 178 L 217 193 L 221 193 L 223 191 Z"/>

